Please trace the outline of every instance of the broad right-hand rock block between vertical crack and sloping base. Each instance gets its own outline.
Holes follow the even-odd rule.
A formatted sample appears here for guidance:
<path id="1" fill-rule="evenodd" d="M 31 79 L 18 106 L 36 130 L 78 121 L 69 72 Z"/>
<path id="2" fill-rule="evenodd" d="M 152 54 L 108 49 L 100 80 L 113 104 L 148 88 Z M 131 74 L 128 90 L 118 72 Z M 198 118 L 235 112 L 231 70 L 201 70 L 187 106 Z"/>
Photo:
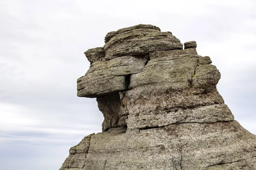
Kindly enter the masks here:
<path id="1" fill-rule="evenodd" d="M 130 90 L 125 92 L 128 129 L 232 121 L 231 111 L 216 90 L 217 68 L 198 65 L 204 57 L 186 54 L 189 50 L 173 51 L 153 52 L 154 59 L 145 69 L 131 75 Z"/>

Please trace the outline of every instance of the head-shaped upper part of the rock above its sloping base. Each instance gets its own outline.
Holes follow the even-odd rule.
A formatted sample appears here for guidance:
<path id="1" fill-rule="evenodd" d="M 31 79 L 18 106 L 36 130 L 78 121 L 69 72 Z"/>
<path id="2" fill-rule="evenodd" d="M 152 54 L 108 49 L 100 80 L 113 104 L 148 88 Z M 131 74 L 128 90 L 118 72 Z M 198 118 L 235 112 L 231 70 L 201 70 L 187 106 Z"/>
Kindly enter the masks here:
<path id="1" fill-rule="evenodd" d="M 77 80 L 78 96 L 97 98 L 102 130 L 233 120 L 216 90 L 220 73 L 195 41 L 183 50 L 171 32 L 142 24 L 107 37 L 104 48 L 85 52 L 91 65 Z"/>

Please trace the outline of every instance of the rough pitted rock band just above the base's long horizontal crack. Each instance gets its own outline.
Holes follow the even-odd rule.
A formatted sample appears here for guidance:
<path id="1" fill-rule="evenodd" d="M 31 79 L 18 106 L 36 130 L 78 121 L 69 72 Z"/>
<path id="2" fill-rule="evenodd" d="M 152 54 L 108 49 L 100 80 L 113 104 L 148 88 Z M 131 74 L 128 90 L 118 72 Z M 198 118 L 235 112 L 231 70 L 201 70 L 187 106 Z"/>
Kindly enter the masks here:
<path id="1" fill-rule="evenodd" d="M 166 89 L 160 92 L 153 87 L 147 86 L 146 91 L 140 87 L 126 92 L 129 99 L 126 104 L 128 129 L 161 127 L 183 122 L 211 123 L 233 120 L 232 113 L 216 90 L 201 94 L 197 89 Z"/>

